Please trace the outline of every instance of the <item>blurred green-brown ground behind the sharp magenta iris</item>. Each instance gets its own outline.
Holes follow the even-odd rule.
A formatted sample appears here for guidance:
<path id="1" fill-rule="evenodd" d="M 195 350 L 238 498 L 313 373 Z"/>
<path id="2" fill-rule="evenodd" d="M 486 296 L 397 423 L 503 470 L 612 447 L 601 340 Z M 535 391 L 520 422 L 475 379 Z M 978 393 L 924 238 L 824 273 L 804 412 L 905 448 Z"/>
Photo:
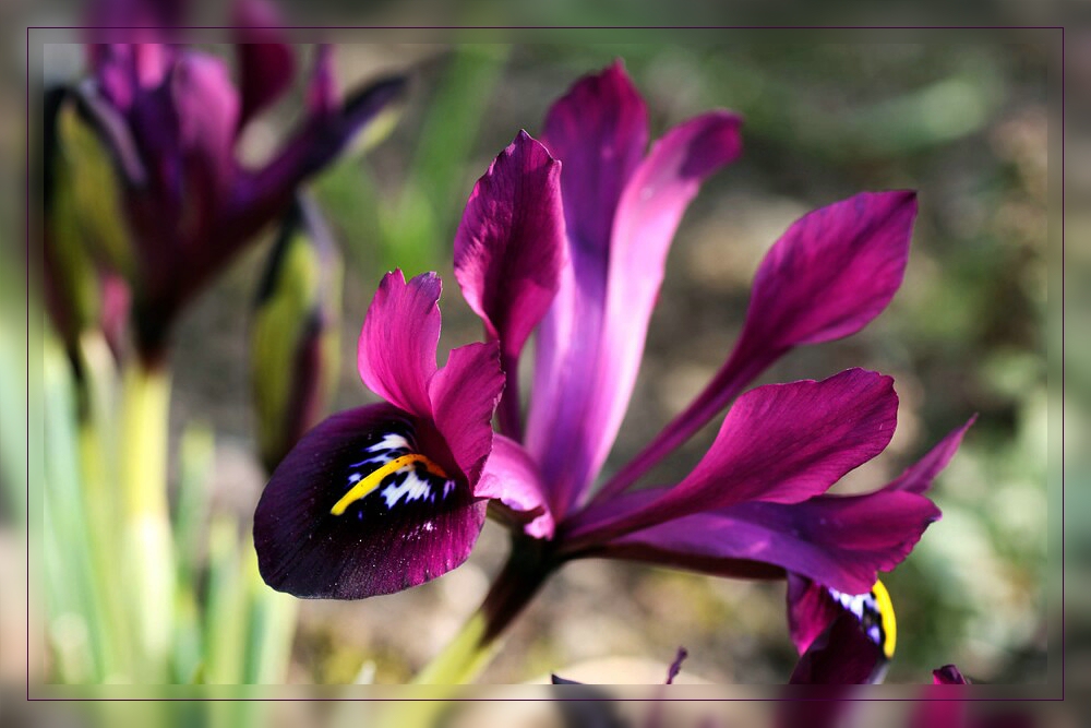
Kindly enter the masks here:
<path id="1" fill-rule="evenodd" d="M 441 357 L 480 338 L 451 273 L 454 229 L 473 181 L 519 129 L 538 132 L 548 106 L 576 77 L 622 58 L 647 99 L 654 136 L 712 107 L 739 111 L 746 123 L 743 158 L 705 184 L 675 238 L 608 473 L 723 361 L 757 263 L 795 218 L 862 190 L 916 189 L 921 212 L 906 283 L 889 309 L 848 341 L 793 353 L 762 383 L 855 366 L 895 377 L 895 440 L 846 490 L 880 486 L 978 415 L 933 491 L 944 518 L 884 580 L 899 620 L 888 680 L 924 682 L 933 668 L 956 663 L 980 682 L 1042 683 L 1047 535 L 1057 527 L 1046 488 L 1050 49 L 1041 36 L 1018 33 L 935 44 L 745 38 L 721 41 L 707 32 L 692 43 L 338 45 L 345 86 L 411 69 L 413 87 L 384 142 L 311 186 L 346 260 L 332 409 L 371 401 L 356 374 L 356 337 L 375 286 L 394 266 L 443 276 Z M 72 50 L 58 48 L 57 68 L 77 73 Z M 250 131 L 247 154 L 261 157 L 296 118 L 298 91 Z M 247 343 L 271 241 L 221 276 L 176 332 L 172 485 L 188 472 L 179 443 L 212 433 L 201 469 L 212 511 L 242 522 L 264 485 Z M 10 382 L 11 372 L 3 375 Z M 717 426 L 646 481 L 684 475 Z M 17 475 L 4 473 L 9 482 Z M 9 501 L 9 514 L 17 503 Z M 470 561 L 431 584 L 359 602 L 301 604 L 288 680 L 408 680 L 477 608 L 505 549 L 503 532 L 490 524 Z M 690 651 L 685 667 L 694 677 L 783 682 L 795 659 L 783 585 L 621 562 L 570 564 L 516 623 L 482 681 L 520 682 L 619 656 L 666 670 L 679 645 Z M 39 657 L 38 677 L 48 681 L 48 648 Z M 611 669 L 622 672 L 603 681 L 624 680 L 625 668 Z"/>

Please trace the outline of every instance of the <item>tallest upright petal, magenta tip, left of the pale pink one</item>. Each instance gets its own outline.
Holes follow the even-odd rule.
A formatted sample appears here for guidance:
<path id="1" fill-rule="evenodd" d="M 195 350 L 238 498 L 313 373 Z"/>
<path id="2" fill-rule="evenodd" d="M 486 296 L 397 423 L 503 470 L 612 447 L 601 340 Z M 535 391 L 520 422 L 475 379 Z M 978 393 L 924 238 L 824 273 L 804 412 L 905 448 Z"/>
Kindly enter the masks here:
<path id="1" fill-rule="evenodd" d="M 538 329 L 526 443 L 567 509 L 586 472 L 585 428 L 606 310 L 611 231 L 622 190 L 644 156 L 648 114 L 621 62 L 580 79 L 550 108 L 542 143 L 561 160 L 570 265 Z"/>

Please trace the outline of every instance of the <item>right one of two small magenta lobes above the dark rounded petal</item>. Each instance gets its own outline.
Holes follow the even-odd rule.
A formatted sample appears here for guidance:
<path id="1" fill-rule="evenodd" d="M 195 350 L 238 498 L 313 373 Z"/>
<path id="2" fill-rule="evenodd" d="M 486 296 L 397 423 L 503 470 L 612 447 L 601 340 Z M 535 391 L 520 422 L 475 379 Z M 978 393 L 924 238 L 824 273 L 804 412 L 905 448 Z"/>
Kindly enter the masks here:
<path id="1" fill-rule="evenodd" d="M 481 476 L 492 450 L 492 416 L 503 390 L 495 342 L 452 350 L 447 366 L 429 384 L 435 427 L 471 485 Z"/>

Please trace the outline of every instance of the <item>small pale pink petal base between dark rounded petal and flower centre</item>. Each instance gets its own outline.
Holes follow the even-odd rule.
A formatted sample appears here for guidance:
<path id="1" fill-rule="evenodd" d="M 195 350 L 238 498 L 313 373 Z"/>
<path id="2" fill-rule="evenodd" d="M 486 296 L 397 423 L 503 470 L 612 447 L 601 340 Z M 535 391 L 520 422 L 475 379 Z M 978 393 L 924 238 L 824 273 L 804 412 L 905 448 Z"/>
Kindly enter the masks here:
<path id="1" fill-rule="evenodd" d="M 502 434 L 495 437 L 473 494 L 500 501 L 504 515 L 531 538 L 553 538 L 555 524 L 546 485 L 533 460 L 514 440 Z"/>

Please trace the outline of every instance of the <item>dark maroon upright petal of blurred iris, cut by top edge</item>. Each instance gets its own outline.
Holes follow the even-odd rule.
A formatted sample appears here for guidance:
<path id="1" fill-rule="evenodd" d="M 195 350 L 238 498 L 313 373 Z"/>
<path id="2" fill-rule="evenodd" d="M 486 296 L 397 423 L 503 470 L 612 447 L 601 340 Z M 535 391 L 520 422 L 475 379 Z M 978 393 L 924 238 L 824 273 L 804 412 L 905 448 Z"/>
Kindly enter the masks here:
<path id="1" fill-rule="evenodd" d="M 287 43 L 276 8 L 264 0 L 236 0 L 232 40 L 239 59 L 242 112 L 239 128 L 279 98 L 296 72 L 296 56 Z"/>

